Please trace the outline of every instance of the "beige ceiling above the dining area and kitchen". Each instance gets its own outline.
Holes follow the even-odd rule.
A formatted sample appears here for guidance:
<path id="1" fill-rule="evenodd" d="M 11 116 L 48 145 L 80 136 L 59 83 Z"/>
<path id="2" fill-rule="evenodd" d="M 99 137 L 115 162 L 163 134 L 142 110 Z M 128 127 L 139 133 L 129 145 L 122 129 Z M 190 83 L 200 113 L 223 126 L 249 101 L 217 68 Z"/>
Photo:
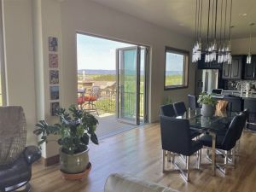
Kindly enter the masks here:
<path id="1" fill-rule="evenodd" d="M 101 3 L 125 14 L 147 20 L 158 26 L 166 27 L 189 37 L 195 37 L 195 3 L 196 0 L 90 0 Z M 218 0 L 218 28 L 220 26 L 221 1 Z M 212 1 L 211 1 L 212 2 Z M 224 0 L 225 3 L 225 0 Z M 228 0 L 230 3 L 230 0 Z M 230 6 L 229 6 L 230 7 Z M 228 7 L 228 9 L 229 9 Z M 207 35 L 208 1 L 203 0 L 202 34 Z M 255 0 L 233 0 L 232 38 L 247 38 L 249 23 L 256 23 Z M 247 14 L 246 16 L 242 16 Z M 229 15 L 229 14 L 228 14 Z M 229 17 L 227 17 L 229 20 Z M 256 25 L 253 26 L 253 37 L 256 37 Z"/>

